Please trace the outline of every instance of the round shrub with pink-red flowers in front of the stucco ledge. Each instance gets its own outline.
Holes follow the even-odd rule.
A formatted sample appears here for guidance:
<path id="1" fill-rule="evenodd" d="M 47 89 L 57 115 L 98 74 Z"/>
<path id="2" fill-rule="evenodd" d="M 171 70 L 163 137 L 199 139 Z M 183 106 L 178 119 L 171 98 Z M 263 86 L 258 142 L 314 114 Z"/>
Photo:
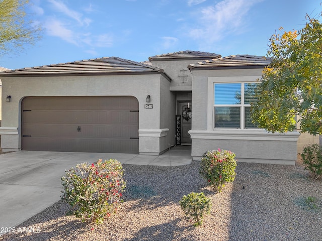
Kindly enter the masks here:
<path id="1" fill-rule="evenodd" d="M 221 192 L 225 183 L 235 179 L 235 154 L 227 150 L 207 151 L 201 158 L 199 173 L 209 185 Z"/>

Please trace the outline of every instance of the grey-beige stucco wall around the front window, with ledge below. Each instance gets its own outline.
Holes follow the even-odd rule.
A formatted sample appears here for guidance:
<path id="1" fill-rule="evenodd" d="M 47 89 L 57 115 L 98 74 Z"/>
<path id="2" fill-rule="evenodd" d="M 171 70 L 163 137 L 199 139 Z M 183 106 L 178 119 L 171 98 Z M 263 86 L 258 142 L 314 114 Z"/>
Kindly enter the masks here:
<path id="1" fill-rule="evenodd" d="M 262 69 L 192 70 L 192 156 L 200 160 L 207 150 L 226 149 L 242 162 L 295 165 L 298 133 L 285 135 L 262 129 L 214 129 L 213 83 L 252 82 Z"/>

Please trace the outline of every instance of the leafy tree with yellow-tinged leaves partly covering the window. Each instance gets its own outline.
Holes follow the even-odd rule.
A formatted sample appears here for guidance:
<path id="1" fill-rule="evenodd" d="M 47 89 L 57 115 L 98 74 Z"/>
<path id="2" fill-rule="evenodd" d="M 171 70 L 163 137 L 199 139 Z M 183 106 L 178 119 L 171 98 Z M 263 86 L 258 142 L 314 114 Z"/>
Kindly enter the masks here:
<path id="1" fill-rule="evenodd" d="M 298 31 L 270 38 L 267 66 L 258 85 L 252 119 L 270 132 L 285 133 L 301 116 L 301 132 L 322 134 L 322 24 L 310 19 Z"/>

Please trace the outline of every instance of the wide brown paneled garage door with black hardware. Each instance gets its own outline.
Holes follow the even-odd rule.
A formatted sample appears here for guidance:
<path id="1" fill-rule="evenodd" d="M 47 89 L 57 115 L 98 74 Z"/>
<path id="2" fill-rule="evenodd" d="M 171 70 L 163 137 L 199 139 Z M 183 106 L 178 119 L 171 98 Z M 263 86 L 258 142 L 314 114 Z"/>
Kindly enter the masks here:
<path id="1" fill-rule="evenodd" d="M 132 96 L 26 97 L 22 149 L 138 153 L 138 109 Z"/>

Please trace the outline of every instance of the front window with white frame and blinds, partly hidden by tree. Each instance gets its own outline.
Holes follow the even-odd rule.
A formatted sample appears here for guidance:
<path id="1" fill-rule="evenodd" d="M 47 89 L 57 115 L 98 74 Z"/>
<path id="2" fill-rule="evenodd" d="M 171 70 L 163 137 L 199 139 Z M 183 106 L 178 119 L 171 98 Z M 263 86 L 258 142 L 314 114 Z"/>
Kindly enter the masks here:
<path id="1" fill-rule="evenodd" d="M 251 122 L 251 103 L 256 83 L 214 84 L 214 128 L 256 128 Z"/>

